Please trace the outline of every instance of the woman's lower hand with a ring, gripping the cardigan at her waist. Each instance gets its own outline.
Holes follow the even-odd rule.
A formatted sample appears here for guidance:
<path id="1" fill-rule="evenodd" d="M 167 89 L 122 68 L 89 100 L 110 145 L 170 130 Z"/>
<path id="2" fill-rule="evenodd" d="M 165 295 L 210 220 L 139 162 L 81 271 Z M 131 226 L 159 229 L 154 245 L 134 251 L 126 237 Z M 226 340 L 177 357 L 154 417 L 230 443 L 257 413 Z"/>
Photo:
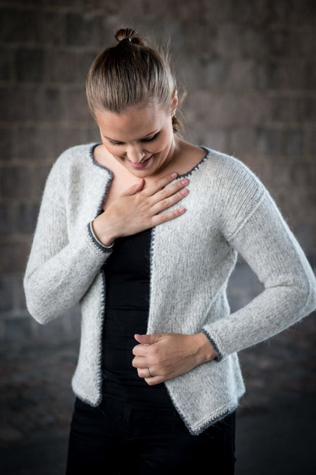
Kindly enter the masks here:
<path id="1" fill-rule="evenodd" d="M 216 358 L 214 348 L 203 333 L 136 334 L 134 338 L 140 345 L 133 348 L 132 364 L 137 368 L 139 378 L 144 378 L 150 386 L 171 380 Z"/>

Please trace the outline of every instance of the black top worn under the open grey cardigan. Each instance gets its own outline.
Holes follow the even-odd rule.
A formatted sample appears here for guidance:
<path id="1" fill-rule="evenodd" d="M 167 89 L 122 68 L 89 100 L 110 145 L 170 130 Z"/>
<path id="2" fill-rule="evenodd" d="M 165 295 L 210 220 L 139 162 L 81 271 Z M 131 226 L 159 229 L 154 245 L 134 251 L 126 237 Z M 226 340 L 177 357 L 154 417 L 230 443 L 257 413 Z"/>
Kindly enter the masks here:
<path id="1" fill-rule="evenodd" d="M 103 266 L 106 305 L 103 327 L 103 394 L 170 406 L 166 386 L 148 386 L 132 366 L 134 334 L 146 334 L 150 290 L 151 229 L 118 238 Z"/>

